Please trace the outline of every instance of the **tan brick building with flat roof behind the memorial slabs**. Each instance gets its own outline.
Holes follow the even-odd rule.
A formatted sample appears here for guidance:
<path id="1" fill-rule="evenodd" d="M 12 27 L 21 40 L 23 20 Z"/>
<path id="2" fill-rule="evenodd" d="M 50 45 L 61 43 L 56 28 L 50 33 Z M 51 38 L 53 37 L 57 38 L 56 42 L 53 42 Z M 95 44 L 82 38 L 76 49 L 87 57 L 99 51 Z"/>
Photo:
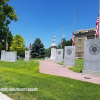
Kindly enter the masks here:
<path id="1" fill-rule="evenodd" d="M 84 58 L 84 40 L 95 39 L 96 28 L 75 32 L 76 58 Z"/>

